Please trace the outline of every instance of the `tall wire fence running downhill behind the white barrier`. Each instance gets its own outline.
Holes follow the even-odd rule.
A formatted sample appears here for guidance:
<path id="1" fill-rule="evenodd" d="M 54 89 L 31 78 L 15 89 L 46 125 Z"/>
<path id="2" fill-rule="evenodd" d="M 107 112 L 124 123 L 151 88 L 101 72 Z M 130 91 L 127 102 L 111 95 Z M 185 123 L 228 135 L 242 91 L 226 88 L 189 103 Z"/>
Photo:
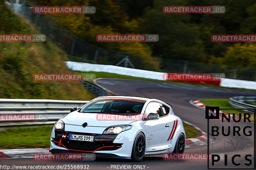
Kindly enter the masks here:
<path id="1" fill-rule="evenodd" d="M 41 6 L 40 4 L 36 4 L 35 1 L 29 0 L 29 3 L 26 3 L 26 0 L 22 0 L 20 4 L 13 4 L 12 2 L 13 0 L 9 0 L 9 2 L 7 1 L 6 3 L 16 13 L 36 25 L 40 32 L 47 36 L 47 39 L 50 39 L 61 49 L 70 54 L 70 61 L 119 65 L 142 70 L 171 73 L 225 73 L 226 78 L 256 80 L 256 68 L 253 67 L 154 58 L 100 48 L 80 39 L 68 31 L 51 15 L 34 14 L 33 8 L 28 5 L 34 4 Z"/>

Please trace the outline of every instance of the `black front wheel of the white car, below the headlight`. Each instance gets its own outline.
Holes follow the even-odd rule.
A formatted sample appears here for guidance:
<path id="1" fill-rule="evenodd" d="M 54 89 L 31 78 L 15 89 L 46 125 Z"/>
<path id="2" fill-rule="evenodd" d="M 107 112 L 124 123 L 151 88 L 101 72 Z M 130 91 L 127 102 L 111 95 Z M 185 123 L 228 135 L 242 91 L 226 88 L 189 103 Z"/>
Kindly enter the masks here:
<path id="1" fill-rule="evenodd" d="M 131 159 L 134 162 L 140 162 L 145 154 L 146 150 L 146 140 L 143 133 L 138 133 L 138 135 L 135 137 L 133 146 L 132 146 L 132 155 Z"/>

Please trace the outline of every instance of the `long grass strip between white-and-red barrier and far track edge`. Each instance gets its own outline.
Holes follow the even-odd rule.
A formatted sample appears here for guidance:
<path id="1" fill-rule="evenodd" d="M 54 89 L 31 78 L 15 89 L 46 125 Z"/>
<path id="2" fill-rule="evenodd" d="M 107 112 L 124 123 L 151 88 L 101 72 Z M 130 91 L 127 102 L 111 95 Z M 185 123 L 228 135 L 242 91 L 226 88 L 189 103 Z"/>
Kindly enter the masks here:
<path id="1" fill-rule="evenodd" d="M 126 75 L 120 75 L 120 74 L 114 74 L 114 73 L 105 73 L 105 72 L 95 72 L 95 71 L 88 71 L 88 72 L 73 71 L 73 72 L 77 73 L 77 74 L 95 74 L 96 78 L 125 78 L 125 79 L 134 79 L 134 80 L 147 80 L 147 81 L 157 81 L 157 82 L 175 83 L 175 84 L 183 84 L 183 85 L 198 85 L 198 86 L 207 86 L 207 87 L 220 88 L 220 86 L 218 86 L 218 85 L 202 85 L 202 84 L 182 82 L 182 81 L 155 80 L 155 79 L 149 79 L 149 78 L 139 78 L 139 77 L 132 77 L 132 76 L 126 76 Z M 256 90 L 252 90 L 252 89 L 240 89 L 240 88 L 230 88 L 230 87 L 221 87 L 221 88 L 256 91 Z"/>

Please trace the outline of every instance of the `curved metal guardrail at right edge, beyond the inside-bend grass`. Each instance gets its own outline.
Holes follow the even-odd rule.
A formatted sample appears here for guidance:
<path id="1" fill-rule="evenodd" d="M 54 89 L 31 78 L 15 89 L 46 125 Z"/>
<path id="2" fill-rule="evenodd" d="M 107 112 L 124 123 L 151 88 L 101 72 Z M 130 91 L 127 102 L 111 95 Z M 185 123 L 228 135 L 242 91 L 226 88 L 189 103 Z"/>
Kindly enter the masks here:
<path id="1" fill-rule="evenodd" d="M 236 96 L 229 98 L 229 104 L 236 108 L 256 108 L 254 105 L 247 104 L 245 102 L 255 103 L 256 104 L 256 96 Z M 254 113 L 252 110 L 243 109 L 246 112 Z"/>

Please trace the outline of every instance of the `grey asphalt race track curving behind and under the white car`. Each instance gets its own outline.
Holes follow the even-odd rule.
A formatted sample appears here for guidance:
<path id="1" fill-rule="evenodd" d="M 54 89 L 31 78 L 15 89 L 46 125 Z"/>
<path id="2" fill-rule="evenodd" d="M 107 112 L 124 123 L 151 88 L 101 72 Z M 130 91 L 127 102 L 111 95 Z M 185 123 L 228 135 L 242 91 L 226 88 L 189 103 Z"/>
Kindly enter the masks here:
<path id="1" fill-rule="evenodd" d="M 194 85 L 180 85 L 171 84 L 164 82 L 154 82 L 154 81 L 141 81 L 141 80 L 128 80 L 128 79 L 114 79 L 114 78 L 101 78 L 96 81 L 99 85 L 104 88 L 118 94 L 118 95 L 132 95 L 132 96 L 144 96 L 149 98 L 156 98 L 163 100 L 172 105 L 174 113 L 185 121 L 188 121 L 197 127 L 207 131 L 207 120 L 205 120 L 205 111 L 198 107 L 193 106 L 189 103 L 190 100 L 204 99 L 204 98 L 220 98 L 228 99 L 232 96 L 255 96 L 255 91 L 243 91 L 243 90 L 233 90 L 225 88 L 212 88 Z M 211 123 L 218 124 L 219 122 Z M 230 124 L 230 123 L 229 123 Z M 231 130 L 232 131 L 232 130 Z M 49 134 L 50 135 L 50 134 Z M 237 137 L 230 137 L 237 142 Z M 230 142 L 229 142 L 230 143 Z M 231 143 L 230 143 L 231 144 Z M 228 143 L 226 144 L 228 146 Z M 241 146 L 244 145 L 244 140 L 241 140 Z M 216 138 L 213 144 L 215 149 L 223 148 L 223 140 Z M 225 150 L 225 154 L 235 155 L 240 153 L 245 154 L 244 149 L 239 149 L 240 143 L 236 150 L 232 147 L 228 147 Z M 207 153 L 207 145 L 197 146 L 185 149 L 188 153 Z M 248 151 L 249 152 L 249 151 Z M 216 151 L 218 153 L 218 151 Z M 252 164 L 254 164 L 254 157 L 252 155 Z M 237 162 L 244 164 L 248 161 L 236 158 Z M 163 160 L 162 155 L 157 156 L 146 156 L 140 163 L 130 162 L 128 160 L 119 159 L 96 159 L 96 161 L 34 161 L 33 159 L 2 159 L 0 160 L 0 165 L 89 165 L 89 169 L 97 170 L 108 170 L 113 169 L 111 165 L 145 165 L 145 169 L 207 169 L 207 161 L 203 160 L 178 160 L 170 161 Z M 228 159 L 227 168 L 233 168 L 230 165 L 230 158 Z M 223 165 L 221 165 L 222 167 Z M 244 166 L 243 166 L 244 167 Z M 253 166 L 250 166 L 251 168 Z M 119 167 L 120 168 L 120 167 Z M 143 166 L 142 166 L 143 168 Z"/>

